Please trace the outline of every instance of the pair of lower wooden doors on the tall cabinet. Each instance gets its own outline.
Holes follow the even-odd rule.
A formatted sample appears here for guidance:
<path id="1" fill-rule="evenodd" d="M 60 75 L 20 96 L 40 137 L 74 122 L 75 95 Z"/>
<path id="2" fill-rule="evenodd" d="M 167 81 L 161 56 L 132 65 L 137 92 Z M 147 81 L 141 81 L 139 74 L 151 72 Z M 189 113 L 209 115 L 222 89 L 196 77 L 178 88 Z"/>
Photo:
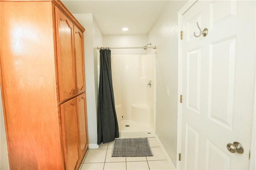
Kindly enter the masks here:
<path id="1" fill-rule="evenodd" d="M 77 169 L 88 149 L 85 93 L 60 105 L 67 169 Z"/>

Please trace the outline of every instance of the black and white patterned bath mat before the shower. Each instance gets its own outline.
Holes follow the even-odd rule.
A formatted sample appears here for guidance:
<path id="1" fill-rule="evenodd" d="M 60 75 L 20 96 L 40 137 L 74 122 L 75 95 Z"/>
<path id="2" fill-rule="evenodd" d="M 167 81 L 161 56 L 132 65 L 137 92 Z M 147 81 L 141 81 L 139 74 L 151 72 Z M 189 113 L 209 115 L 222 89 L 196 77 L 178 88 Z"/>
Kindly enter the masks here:
<path id="1" fill-rule="evenodd" d="M 153 156 L 147 138 L 115 139 L 112 157 Z"/>

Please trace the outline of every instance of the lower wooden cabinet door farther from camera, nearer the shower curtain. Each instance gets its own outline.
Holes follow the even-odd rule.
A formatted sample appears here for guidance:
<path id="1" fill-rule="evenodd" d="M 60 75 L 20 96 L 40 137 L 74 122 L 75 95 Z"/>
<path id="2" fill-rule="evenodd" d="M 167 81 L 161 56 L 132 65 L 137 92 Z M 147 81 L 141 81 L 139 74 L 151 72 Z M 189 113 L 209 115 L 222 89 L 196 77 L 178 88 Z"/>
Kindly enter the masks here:
<path id="1" fill-rule="evenodd" d="M 86 150 L 88 149 L 85 93 L 80 94 L 77 97 L 77 100 L 78 100 L 78 123 L 79 123 L 79 134 L 80 134 L 80 150 L 81 150 L 82 157 L 83 157 Z"/>

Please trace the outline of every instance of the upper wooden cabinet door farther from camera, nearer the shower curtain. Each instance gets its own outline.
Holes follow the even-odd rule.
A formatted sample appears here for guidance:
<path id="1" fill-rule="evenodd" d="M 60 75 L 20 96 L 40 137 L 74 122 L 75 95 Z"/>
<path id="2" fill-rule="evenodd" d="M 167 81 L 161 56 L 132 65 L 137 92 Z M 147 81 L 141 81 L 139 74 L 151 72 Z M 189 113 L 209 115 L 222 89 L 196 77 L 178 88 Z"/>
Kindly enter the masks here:
<path id="1" fill-rule="evenodd" d="M 76 57 L 76 88 L 78 93 L 85 90 L 84 85 L 84 41 L 83 32 L 74 25 L 74 44 Z"/>

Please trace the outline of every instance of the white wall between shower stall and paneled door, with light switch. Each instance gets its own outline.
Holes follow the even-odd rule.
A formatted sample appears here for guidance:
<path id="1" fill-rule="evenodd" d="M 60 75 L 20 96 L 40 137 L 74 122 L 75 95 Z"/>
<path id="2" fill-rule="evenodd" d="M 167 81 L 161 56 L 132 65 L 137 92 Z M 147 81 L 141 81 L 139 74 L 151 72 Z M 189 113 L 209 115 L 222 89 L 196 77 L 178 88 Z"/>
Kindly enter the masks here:
<path id="1" fill-rule="evenodd" d="M 156 45 L 156 135 L 176 167 L 178 121 L 178 11 L 186 1 L 171 1 L 148 33 Z M 166 88 L 170 88 L 170 96 Z"/>

